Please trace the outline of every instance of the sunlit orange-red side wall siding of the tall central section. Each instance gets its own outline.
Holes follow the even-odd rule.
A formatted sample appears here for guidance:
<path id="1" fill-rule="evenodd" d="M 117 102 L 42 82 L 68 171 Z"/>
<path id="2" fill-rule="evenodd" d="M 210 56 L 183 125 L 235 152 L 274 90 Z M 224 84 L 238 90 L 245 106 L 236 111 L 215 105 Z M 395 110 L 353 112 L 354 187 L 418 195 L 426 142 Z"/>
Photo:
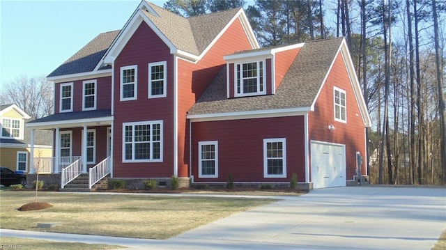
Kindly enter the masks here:
<path id="1" fill-rule="evenodd" d="M 223 56 L 245 49 L 252 49 L 252 46 L 240 20 L 236 19 L 198 63 L 178 60 L 178 176 L 189 176 L 187 111 L 226 63 Z"/>

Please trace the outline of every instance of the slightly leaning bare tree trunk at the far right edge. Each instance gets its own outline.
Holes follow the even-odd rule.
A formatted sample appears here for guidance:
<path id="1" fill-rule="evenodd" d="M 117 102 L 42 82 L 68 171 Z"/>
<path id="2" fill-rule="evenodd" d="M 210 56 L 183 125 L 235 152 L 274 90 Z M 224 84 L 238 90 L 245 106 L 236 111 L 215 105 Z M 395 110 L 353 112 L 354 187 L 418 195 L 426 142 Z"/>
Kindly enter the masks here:
<path id="1" fill-rule="evenodd" d="M 445 91 L 443 90 L 443 68 L 440 59 L 440 36 L 438 35 L 438 16 L 436 0 L 432 0 L 433 13 L 433 33 L 435 40 L 435 63 L 437 72 L 438 109 L 440 112 L 440 134 L 441 134 L 441 169 L 443 170 L 443 184 L 446 183 L 446 111 L 445 111 Z"/>

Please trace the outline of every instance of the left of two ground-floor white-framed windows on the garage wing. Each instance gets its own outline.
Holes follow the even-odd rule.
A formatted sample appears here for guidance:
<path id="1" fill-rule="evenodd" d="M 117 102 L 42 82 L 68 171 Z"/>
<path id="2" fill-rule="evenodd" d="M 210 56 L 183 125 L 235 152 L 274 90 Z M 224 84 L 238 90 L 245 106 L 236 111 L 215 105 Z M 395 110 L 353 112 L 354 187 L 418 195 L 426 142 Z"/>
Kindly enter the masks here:
<path id="1" fill-rule="evenodd" d="M 198 143 L 199 178 L 218 178 L 218 141 Z"/>

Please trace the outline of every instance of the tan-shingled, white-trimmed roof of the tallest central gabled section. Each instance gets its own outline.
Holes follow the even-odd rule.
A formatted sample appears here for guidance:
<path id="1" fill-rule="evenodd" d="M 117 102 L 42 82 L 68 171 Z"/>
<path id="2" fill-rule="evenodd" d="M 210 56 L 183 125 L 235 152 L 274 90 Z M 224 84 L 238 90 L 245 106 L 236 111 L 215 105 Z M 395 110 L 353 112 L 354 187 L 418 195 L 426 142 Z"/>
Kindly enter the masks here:
<path id="1" fill-rule="evenodd" d="M 259 43 L 243 12 L 243 8 L 186 18 L 148 1 L 141 1 L 116 40 L 105 53 L 105 56 L 103 56 L 103 62 L 112 63 L 114 61 L 141 22 L 146 22 L 151 27 L 170 48 L 171 54 L 197 61 L 212 46 L 213 42 L 224 33 L 226 27 L 237 18 L 242 22 L 252 47 L 258 48 Z"/>

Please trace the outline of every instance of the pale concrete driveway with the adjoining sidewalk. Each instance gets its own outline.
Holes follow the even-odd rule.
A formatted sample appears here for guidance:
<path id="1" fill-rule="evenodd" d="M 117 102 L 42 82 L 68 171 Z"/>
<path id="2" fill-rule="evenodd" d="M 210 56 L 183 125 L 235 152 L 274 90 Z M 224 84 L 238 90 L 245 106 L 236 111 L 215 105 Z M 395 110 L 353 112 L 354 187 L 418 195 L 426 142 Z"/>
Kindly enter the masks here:
<path id="1" fill-rule="evenodd" d="M 169 240 L 1 229 L 2 237 L 131 249 L 431 249 L 446 228 L 446 189 L 339 187 L 281 197 Z"/>

